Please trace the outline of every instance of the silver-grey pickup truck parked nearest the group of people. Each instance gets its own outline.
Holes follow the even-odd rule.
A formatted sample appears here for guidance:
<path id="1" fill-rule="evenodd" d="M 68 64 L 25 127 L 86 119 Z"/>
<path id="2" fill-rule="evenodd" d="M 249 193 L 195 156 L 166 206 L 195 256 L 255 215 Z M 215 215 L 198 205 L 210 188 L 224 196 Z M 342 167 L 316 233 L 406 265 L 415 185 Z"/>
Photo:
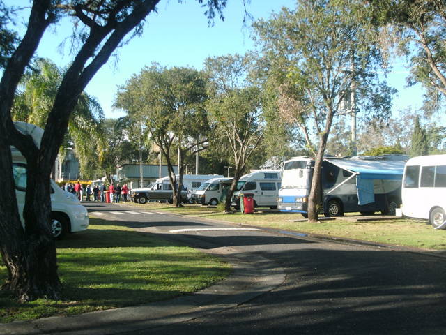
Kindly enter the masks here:
<path id="1" fill-rule="evenodd" d="M 148 188 L 134 188 L 130 191 L 133 202 L 146 204 L 149 201 L 167 201 L 172 203 L 174 191 L 169 183 L 152 183 Z M 183 187 L 181 191 L 183 202 L 187 202 L 187 189 Z"/>

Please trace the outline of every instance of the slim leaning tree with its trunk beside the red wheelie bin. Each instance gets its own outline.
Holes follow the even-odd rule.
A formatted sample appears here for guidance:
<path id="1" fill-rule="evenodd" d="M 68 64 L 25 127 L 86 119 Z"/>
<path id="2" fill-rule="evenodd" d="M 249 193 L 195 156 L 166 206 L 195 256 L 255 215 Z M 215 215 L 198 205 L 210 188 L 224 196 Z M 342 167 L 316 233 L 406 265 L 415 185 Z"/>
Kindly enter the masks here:
<path id="1" fill-rule="evenodd" d="M 249 159 L 259 149 L 265 132 L 261 91 L 249 83 L 249 57 L 226 55 L 206 59 L 210 77 L 208 111 L 215 127 L 213 146 L 228 144 L 234 178 L 224 210 L 231 211 L 231 198 Z M 222 149 L 224 150 L 224 149 Z"/>

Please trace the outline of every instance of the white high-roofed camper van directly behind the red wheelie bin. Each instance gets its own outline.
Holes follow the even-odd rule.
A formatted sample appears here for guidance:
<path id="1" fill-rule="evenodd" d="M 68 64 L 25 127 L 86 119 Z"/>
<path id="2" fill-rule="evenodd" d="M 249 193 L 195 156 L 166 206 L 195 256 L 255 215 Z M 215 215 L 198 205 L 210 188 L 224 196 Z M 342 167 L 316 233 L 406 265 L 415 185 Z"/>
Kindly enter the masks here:
<path id="1" fill-rule="evenodd" d="M 254 194 L 254 207 L 277 208 L 277 195 L 282 183 L 282 171 L 252 170 L 240 177 L 232 198 L 233 207 L 240 207 L 240 193 Z"/>

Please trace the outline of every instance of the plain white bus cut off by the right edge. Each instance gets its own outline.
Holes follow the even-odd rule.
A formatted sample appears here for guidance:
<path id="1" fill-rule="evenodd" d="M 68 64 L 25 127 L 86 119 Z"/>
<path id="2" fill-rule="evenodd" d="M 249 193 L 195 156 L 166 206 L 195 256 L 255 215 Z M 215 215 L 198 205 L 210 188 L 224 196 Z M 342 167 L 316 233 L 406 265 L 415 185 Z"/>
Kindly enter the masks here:
<path id="1" fill-rule="evenodd" d="M 410 158 L 403 175 L 405 216 L 425 218 L 433 228 L 446 228 L 446 155 Z"/>

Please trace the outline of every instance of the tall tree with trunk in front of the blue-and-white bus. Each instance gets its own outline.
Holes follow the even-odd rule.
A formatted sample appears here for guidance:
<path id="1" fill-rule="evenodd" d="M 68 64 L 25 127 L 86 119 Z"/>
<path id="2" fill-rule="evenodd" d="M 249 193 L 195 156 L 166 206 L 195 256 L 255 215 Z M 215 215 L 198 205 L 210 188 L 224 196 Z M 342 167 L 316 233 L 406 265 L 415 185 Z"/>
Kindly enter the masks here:
<path id="1" fill-rule="evenodd" d="M 315 159 L 309 221 L 317 221 L 321 165 L 341 102 L 355 87 L 358 107 L 380 116 L 390 112 L 390 89 L 379 81 L 381 57 L 376 28 L 362 1 L 298 1 L 270 20 L 254 24 L 275 78 L 279 112 L 305 136 Z M 357 110 L 353 111 L 357 112 Z M 312 133 L 314 128 L 314 133 Z"/>

